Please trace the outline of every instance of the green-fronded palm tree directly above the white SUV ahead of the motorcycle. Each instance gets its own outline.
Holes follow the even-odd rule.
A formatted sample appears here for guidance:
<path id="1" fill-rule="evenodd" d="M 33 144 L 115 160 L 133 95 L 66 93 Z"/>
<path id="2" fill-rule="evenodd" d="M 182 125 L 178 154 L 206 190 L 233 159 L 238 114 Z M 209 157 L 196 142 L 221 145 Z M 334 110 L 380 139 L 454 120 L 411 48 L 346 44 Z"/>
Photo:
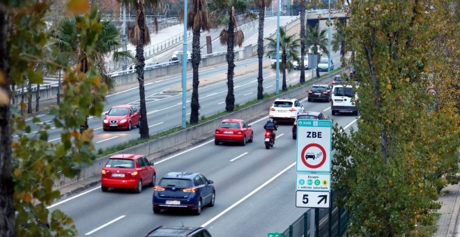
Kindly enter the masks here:
<path id="1" fill-rule="evenodd" d="M 286 69 L 288 72 L 293 70 L 293 65 L 291 61 L 299 61 L 298 50 L 300 47 L 300 39 L 294 39 L 295 35 L 286 36 L 286 29 L 279 27 L 279 50 L 282 52 L 282 61 L 279 66 L 283 72 L 283 84 L 282 90 L 287 90 L 286 85 Z M 275 56 L 276 55 L 276 39 L 266 38 L 269 41 L 268 45 L 270 50 L 267 52 L 267 55 Z"/>

